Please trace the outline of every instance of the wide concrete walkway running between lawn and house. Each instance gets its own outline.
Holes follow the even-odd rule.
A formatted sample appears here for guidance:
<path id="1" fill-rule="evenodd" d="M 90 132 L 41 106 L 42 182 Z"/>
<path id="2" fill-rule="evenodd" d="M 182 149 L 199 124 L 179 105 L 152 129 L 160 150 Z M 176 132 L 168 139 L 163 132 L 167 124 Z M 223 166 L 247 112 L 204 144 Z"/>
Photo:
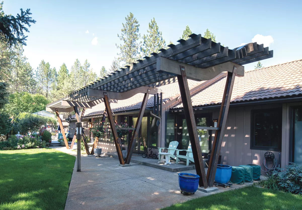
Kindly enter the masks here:
<path id="1" fill-rule="evenodd" d="M 76 155 L 65 147 L 55 148 Z M 132 163 L 130 167 L 119 167 L 118 159 L 81 157 L 82 172 L 73 170 L 65 210 L 128 210 L 160 209 L 175 203 L 211 195 L 197 191 L 194 195 L 183 195 L 179 191 L 178 173 Z M 195 173 L 194 170 L 186 171 Z M 241 188 L 219 187 L 218 192 Z"/>

